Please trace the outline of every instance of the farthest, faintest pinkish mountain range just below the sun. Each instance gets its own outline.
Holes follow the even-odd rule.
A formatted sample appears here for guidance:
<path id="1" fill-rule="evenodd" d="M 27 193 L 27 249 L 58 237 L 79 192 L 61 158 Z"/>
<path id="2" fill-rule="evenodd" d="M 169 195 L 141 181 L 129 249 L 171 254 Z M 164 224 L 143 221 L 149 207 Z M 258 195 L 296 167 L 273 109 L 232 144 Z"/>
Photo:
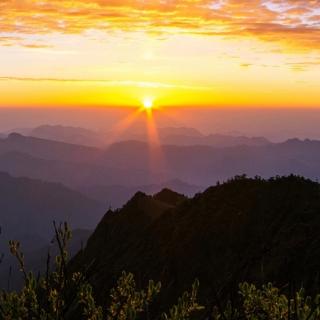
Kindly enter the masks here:
<path id="1" fill-rule="evenodd" d="M 162 144 L 233 147 L 238 145 L 260 146 L 270 143 L 270 141 L 263 137 L 249 138 L 222 134 L 204 135 L 194 128 L 187 127 L 164 127 L 157 130 Z M 84 128 L 43 125 L 29 130 L 17 129 L 16 132 L 41 139 L 102 148 L 110 143 L 120 141 L 136 140 L 148 142 L 150 139 L 148 130 L 145 127 L 133 127 L 123 132 L 116 130 L 98 132 Z"/>

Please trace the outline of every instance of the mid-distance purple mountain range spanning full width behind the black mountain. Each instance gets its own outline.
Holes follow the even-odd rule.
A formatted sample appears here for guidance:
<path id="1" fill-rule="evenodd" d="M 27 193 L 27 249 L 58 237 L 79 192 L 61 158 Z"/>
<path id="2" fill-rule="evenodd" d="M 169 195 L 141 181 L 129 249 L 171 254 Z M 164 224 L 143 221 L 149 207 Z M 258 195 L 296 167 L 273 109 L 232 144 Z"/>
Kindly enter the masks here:
<path id="1" fill-rule="evenodd" d="M 96 199 L 106 199 L 112 206 L 123 204 L 139 188 L 158 191 L 170 181 L 180 182 L 172 186 L 178 192 L 192 195 L 244 173 L 262 177 L 294 173 L 318 179 L 319 160 L 320 142 L 298 139 L 223 148 L 159 147 L 139 141 L 96 148 L 16 133 L 0 140 L 0 171 L 63 183 Z M 123 193 L 117 197 L 119 190 Z M 103 192 L 112 196 L 103 197 Z"/>

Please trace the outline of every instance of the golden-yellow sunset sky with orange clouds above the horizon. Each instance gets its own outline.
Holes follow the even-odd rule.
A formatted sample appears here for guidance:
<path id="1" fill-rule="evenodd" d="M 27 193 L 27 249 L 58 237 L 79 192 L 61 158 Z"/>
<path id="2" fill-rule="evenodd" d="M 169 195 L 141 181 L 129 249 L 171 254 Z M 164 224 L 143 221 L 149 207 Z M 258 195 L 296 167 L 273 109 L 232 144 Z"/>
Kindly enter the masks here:
<path id="1" fill-rule="evenodd" d="M 318 108 L 319 0 L 0 0 L 0 106 Z"/>

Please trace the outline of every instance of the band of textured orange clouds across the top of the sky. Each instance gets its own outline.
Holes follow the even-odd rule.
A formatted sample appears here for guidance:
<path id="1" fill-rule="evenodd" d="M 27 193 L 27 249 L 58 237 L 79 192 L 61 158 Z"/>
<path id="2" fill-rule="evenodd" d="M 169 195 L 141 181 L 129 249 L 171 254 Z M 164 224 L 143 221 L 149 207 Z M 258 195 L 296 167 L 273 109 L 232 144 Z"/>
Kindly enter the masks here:
<path id="1" fill-rule="evenodd" d="M 320 49 L 319 0 L 1 0 L 1 32 L 79 34 L 96 29 L 256 37 Z M 15 39 L 1 40 L 8 45 Z"/>

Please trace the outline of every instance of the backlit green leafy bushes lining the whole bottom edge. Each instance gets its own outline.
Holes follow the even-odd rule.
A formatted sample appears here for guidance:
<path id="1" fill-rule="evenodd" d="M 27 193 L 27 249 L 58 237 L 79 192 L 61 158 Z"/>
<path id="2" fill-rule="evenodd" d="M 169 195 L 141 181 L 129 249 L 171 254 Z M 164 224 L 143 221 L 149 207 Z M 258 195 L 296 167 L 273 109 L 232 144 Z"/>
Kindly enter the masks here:
<path id="1" fill-rule="evenodd" d="M 24 277 L 19 292 L 0 292 L 0 319 L 4 320 L 138 320 L 151 319 L 150 306 L 159 295 L 161 284 L 152 280 L 144 290 L 138 290 L 131 273 L 123 272 L 115 288 L 110 291 L 110 305 L 98 306 L 93 288 L 84 274 L 69 272 L 67 244 L 71 238 L 68 225 L 54 223 L 59 254 L 54 270 L 50 271 L 51 257 L 47 258 L 45 275 L 35 277 L 27 273 L 24 255 L 19 242 L 10 241 L 11 253 L 17 258 Z M 239 303 L 228 301 L 224 307 L 219 302 L 205 312 L 197 302 L 199 282 L 190 292 L 185 292 L 168 313 L 157 316 L 162 320 L 320 320 L 320 295 L 314 299 L 303 289 L 287 297 L 272 284 L 261 289 L 253 284 L 239 286 Z"/>

